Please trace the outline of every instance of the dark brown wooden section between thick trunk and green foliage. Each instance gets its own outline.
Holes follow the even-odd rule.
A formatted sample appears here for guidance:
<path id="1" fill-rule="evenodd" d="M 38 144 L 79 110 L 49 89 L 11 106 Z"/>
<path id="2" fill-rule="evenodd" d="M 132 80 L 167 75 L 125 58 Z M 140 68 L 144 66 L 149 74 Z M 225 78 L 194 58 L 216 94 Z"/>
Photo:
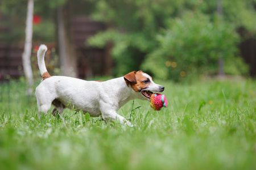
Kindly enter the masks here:
<path id="1" fill-rule="evenodd" d="M 86 16 L 79 16 L 72 21 L 73 42 L 77 53 L 79 78 L 90 78 L 96 75 L 110 75 L 112 58 L 110 44 L 105 48 L 89 46 L 86 40 L 106 28 L 102 22 L 95 22 Z"/>

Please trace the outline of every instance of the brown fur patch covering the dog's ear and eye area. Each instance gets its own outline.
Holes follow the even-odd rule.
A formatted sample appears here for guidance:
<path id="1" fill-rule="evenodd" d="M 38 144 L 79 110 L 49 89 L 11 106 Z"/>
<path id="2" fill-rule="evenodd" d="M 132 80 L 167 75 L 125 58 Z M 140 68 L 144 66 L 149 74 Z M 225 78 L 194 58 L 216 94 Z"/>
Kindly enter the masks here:
<path id="1" fill-rule="evenodd" d="M 133 88 L 133 90 L 136 92 L 140 92 L 142 88 L 146 88 L 150 84 L 150 83 L 146 84 L 143 82 L 144 80 L 147 80 L 147 77 L 142 75 L 142 73 L 143 72 L 139 70 L 137 72 L 133 71 L 124 76 L 127 86 L 129 86 L 130 84 L 131 88 Z"/>

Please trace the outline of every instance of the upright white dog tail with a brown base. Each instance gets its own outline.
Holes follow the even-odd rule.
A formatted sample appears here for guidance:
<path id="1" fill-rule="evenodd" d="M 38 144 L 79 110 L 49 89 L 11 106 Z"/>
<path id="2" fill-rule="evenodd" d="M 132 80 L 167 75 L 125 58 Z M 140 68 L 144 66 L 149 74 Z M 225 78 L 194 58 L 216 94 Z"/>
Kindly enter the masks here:
<path id="1" fill-rule="evenodd" d="M 44 54 L 46 54 L 47 46 L 44 44 L 41 44 L 38 49 L 38 67 L 40 70 L 40 73 L 43 77 L 43 80 L 49 78 L 51 75 L 49 75 L 47 69 L 46 69 L 46 63 L 44 62 Z"/>

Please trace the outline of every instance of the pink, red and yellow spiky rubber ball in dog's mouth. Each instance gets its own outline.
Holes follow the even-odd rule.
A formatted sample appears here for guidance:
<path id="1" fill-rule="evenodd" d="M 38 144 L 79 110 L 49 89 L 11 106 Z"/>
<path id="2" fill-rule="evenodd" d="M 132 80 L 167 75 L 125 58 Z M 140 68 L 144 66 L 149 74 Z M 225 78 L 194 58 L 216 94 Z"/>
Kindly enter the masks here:
<path id="1" fill-rule="evenodd" d="M 155 111 L 160 111 L 162 107 L 167 107 L 166 96 L 161 94 L 152 94 L 150 97 L 150 106 Z"/>

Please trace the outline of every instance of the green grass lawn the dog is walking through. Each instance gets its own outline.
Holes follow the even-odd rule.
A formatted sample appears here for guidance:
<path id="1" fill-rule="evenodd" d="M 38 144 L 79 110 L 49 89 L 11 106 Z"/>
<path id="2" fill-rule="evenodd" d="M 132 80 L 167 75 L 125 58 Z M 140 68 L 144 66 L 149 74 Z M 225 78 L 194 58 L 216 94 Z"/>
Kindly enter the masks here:
<path id="1" fill-rule="evenodd" d="M 65 110 L 38 120 L 22 82 L 0 85 L 0 169 L 255 169 L 255 80 L 159 82 L 168 107 L 135 100 L 105 124 Z"/>

